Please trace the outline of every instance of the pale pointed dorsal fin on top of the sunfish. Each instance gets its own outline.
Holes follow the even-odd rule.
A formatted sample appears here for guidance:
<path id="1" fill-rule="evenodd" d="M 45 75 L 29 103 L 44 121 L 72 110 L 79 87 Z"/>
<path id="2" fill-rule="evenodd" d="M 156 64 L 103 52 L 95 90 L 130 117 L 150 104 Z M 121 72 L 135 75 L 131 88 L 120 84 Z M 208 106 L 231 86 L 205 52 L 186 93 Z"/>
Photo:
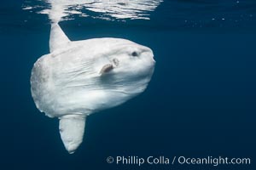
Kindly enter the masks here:
<path id="1" fill-rule="evenodd" d="M 52 53 L 55 49 L 65 48 L 69 42 L 70 40 L 62 31 L 61 26 L 57 23 L 52 24 L 49 36 L 49 52 Z"/>

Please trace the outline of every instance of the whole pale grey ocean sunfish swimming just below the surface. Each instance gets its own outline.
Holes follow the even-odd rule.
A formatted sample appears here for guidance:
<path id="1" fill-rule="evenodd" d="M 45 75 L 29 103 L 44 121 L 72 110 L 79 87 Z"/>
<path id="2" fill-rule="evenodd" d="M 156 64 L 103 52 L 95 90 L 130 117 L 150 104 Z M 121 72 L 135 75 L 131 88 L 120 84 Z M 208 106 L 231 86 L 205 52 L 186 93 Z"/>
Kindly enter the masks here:
<path id="1" fill-rule="evenodd" d="M 32 98 L 39 111 L 60 119 L 69 153 L 83 141 L 86 116 L 141 94 L 154 72 L 150 48 L 111 37 L 70 41 L 58 23 L 49 50 L 33 65 Z"/>

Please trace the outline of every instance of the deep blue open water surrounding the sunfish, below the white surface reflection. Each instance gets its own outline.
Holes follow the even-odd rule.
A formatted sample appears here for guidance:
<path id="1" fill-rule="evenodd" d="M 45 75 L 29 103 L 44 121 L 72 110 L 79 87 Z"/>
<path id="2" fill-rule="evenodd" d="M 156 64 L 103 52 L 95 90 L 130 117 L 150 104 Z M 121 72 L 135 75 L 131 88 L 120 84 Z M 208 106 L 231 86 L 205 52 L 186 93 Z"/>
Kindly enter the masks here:
<path id="1" fill-rule="evenodd" d="M 256 159 L 256 3 L 163 1 L 150 20 L 81 18 L 60 23 L 71 40 L 122 37 L 153 49 L 147 90 L 88 117 L 67 154 L 58 120 L 32 100 L 33 63 L 49 53 L 45 14 L 0 7 L 1 169 L 253 169 Z M 33 2 L 33 5 L 44 5 Z M 45 4 L 46 5 L 46 4 Z M 251 165 L 116 165 L 108 156 L 249 157 Z"/>

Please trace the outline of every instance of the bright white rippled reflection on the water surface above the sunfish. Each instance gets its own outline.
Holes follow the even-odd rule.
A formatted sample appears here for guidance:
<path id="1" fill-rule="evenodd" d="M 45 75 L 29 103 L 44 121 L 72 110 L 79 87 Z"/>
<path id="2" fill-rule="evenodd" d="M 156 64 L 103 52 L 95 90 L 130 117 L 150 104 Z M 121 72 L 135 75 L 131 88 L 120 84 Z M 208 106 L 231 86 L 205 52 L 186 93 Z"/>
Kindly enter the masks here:
<path id="1" fill-rule="evenodd" d="M 154 11 L 162 0 L 45 0 L 50 8 L 39 10 L 40 14 L 49 14 L 49 19 L 53 22 L 61 20 L 72 20 L 73 14 L 80 17 L 92 17 L 102 20 L 113 19 L 142 19 L 149 20 L 148 12 Z M 42 8 L 42 6 L 32 6 L 26 1 L 24 10 Z"/>

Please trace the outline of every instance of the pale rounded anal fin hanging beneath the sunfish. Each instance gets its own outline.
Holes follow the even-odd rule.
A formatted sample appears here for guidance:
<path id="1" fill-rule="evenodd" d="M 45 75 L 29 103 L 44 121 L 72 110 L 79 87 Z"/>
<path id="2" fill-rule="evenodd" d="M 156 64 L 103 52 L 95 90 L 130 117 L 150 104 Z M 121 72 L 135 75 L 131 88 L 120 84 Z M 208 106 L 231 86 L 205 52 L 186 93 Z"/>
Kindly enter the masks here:
<path id="1" fill-rule="evenodd" d="M 68 151 L 73 154 L 83 142 L 85 116 L 61 116 L 59 129 L 62 142 Z"/>

